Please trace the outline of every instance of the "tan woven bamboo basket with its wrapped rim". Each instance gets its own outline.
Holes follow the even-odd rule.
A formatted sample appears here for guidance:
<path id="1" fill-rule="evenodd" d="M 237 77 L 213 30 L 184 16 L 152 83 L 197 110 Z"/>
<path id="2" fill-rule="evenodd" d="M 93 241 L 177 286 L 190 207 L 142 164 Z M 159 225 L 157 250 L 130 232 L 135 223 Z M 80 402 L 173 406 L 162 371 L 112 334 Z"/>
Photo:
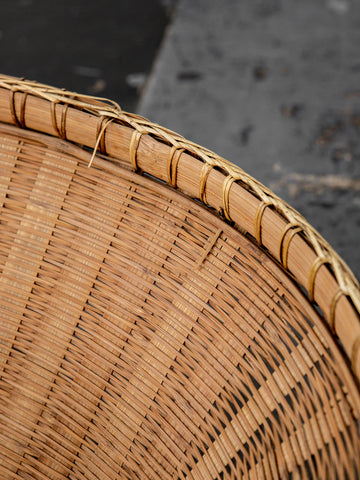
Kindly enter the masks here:
<path id="1" fill-rule="evenodd" d="M 242 170 L 0 77 L 0 476 L 360 477 L 360 295 Z"/>

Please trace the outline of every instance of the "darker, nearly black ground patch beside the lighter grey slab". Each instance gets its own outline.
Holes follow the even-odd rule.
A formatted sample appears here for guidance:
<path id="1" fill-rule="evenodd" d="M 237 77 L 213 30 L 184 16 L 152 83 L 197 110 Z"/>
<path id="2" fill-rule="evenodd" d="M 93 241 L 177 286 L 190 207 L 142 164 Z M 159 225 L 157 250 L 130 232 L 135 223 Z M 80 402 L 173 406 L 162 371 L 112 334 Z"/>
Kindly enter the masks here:
<path id="1" fill-rule="evenodd" d="M 0 71 L 133 111 L 171 15 L 166 0 L 1 0 Z"/>

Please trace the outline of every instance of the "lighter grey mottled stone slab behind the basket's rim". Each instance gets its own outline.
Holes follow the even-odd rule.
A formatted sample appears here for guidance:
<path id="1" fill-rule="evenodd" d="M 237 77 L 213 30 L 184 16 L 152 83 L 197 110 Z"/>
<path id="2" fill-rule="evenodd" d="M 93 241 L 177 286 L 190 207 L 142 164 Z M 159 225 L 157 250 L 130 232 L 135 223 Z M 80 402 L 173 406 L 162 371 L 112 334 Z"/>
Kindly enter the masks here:
<path id="1" fill-rule="evenodd" d="M 180 0 L 138 112 L 241 166 L 360 277 L 360 3 Z"/>

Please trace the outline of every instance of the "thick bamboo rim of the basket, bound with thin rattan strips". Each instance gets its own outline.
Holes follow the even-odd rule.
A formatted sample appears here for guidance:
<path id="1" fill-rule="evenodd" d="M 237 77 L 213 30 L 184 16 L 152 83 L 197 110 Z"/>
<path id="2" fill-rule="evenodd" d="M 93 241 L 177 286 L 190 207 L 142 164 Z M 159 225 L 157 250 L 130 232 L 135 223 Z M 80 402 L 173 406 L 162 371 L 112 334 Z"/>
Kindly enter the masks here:
<path id="1" fill-rule="evenodd" d="M 360 288 L 293 208 L 235 165 L 112 101 L 0 75 L 0 121 L 107 154 L 219 212 L 257 242 L 323 312 L 360 380 Z M 90 165 L 89 165 L 90 166 Z"/>

